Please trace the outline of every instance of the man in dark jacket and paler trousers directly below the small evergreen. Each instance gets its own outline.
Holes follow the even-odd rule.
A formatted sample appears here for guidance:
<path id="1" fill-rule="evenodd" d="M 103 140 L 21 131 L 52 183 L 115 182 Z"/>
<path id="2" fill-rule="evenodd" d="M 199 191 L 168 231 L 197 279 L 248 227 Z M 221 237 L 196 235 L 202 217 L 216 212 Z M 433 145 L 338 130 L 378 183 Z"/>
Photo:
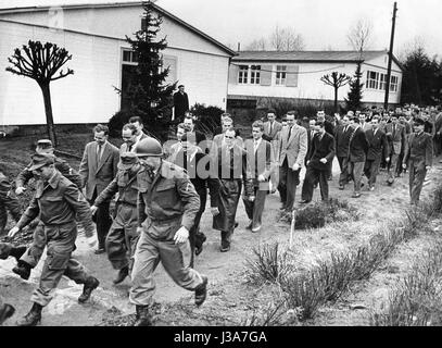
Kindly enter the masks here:
<path id="1" fill-rule="evenodd" d="M 354 128 L 349 140 L 349 173 L 354 183 L 353 198 L 361 197 L 362 177 L 367 151 L 368 142 L 365 132 L 361 128 L 359 120 L 355 117 Z"/>

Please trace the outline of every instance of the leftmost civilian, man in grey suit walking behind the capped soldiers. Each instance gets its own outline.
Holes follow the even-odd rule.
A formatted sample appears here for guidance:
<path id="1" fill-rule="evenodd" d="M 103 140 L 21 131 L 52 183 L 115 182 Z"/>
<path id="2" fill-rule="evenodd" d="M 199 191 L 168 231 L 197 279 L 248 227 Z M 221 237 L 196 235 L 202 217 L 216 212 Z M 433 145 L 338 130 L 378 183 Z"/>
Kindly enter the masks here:
<path id="1" fill-rule="evenodd" d="M 94 141 L 88 142 L 79 165 L 81 187 L 86 186 L 86 198 L 92 206 L 96 198 L 108 187 L 118 172 L 118 148 L 108 141 L 108 126 L 98 124 L 93 128 Z M 94 215 L 97 224 L 98 249 L 96 253 L 103 253 L 105 237 L 111 227 L 109 215 L 110 200 L 99 206 Z"/>

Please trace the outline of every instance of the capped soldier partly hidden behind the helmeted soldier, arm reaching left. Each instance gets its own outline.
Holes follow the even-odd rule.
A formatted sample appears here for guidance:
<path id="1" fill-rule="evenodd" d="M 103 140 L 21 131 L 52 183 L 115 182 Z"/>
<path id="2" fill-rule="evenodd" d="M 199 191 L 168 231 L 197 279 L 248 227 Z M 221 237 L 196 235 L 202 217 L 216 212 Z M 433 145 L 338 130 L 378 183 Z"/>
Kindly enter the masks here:
<path id="1" fill-rule="evenodd" d="M 105 249 L 112 266 L 118 270 L 114 284 L 122 283 L 134 265 L 134 252 L 139 234 L 137 232 L 137 173 L 140 170 L 138 158 L 134 152 L 123 152 L 118 163 L 118 172 L 111 184 L 97 197 L 90 207 L 92 214 L 103 201 L 110 200 L 118 192 L 115 217 L 106 236 Z"/>

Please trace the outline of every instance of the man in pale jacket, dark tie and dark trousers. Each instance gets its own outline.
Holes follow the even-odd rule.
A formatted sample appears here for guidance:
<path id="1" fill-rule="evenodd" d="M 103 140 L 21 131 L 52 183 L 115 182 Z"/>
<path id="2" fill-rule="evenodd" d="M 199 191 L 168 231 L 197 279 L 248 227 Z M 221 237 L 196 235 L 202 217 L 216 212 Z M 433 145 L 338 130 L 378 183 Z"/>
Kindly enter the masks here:
<path id="1" fill-rule="evenodd" d="M 287 127 L 280 133 L 281 145 L 278 159 L 281 210 L 292 211 L 296 186 L 300 184 L 300 171 L 307 154 L 307 130 L 295 123 L 296 111 L 287 113 Z"/>

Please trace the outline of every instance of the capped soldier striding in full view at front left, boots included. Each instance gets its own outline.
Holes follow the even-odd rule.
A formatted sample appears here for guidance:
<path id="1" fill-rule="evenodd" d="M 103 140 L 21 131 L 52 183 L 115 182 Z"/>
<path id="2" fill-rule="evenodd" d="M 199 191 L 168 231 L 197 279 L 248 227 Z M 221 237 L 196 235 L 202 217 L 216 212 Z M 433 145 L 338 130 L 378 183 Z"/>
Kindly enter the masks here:
<path id="1" fill-rule="evenodd" d="M 90 247 L 96 244 L 96 233 L 88 203 L 79 198 L 78 188 L 55 170 L 54 160 L 50 153 L 34 154 L 29 171 L 38 178 L 36 194 L 22 219 L 8 234 L 12 238 L 39 215 L 48 247 L 39 287 L 30 298 L 33 308 L 17 322 L 18 326 L 35 326 L 41 321 L 41 310 L 51 301 L 63 275 L 77 284 L 84 284 L 83 294 L 78 297 L 80 303 L 87 301 L 100 284 L 72 258 L 77 237 L 75 219 L 81 222 Z"/>

